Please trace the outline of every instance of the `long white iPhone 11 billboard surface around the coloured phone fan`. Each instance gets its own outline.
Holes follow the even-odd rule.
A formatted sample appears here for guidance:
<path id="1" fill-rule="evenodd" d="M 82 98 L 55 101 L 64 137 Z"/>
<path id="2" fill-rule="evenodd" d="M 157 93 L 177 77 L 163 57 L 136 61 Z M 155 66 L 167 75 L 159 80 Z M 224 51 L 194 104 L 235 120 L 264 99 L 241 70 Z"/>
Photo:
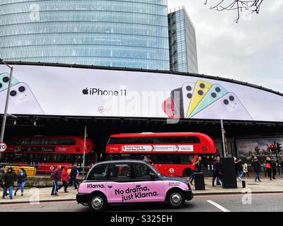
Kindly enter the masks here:
<path id="1" fill-rule="evenodd" d="M 54 66 L 13 67 L 16 82 L 11 91 L 15 90 L 16 95 L 14 92 L 10 97 L 9 114 L 168 118 L 162 105 L 171 97 L 171 91 L 182 88 L 185 83 L 205 81 L 211 85 L 217 83 L 235 95 L 238 108 L 223 108 L 220 99 L 228 98 L 228 95 L 204 107 L 192 118 L 283 121 L 282 96 L 246 85 L 167 73 Z M 8 72 L 6 66 L 0 66 L 0 74 Z M 23 93 L 18 91 L 22 87 L 25 87 Z M 91 90 L 100 92 L 91 95 Z M 6 89 L 2 88 L 1 112 L 4 112 L 5 98 Z"/>

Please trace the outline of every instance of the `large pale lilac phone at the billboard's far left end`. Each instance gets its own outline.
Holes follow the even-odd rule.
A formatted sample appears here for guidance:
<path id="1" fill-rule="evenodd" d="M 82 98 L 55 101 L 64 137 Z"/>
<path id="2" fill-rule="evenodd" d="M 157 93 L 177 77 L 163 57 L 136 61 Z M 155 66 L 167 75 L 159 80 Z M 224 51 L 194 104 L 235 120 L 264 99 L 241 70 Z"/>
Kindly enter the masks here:
<path id="1" fill-rule="evenodd" d="M 0 110 L 4 112 L 6 90 L 0 93 Z M 11 114 L 44 114 L 35 95 L 26 83 L 17 83 L 9 93 L 8 113 Z"/>

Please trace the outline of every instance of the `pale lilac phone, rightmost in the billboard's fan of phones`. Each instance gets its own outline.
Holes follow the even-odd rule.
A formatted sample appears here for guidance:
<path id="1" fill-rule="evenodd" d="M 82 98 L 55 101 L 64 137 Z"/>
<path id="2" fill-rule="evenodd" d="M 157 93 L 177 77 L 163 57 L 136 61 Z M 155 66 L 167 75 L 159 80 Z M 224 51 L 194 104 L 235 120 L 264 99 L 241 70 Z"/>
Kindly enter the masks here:
<path id="1" fill-rule="evenodd" d="M 195 114 L 192 119 L 253 120 L 253 117 L 234 93 L 227 93 Z"/>

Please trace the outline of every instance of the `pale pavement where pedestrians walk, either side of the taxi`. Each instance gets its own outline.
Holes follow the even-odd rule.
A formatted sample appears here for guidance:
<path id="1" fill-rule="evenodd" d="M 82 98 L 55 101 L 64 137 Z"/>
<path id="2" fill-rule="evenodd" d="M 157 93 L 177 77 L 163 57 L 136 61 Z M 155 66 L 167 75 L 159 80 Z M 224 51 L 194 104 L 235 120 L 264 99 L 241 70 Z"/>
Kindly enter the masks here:
<path id="1" fill-rule="evenodd" d="M 254 182 L 253 178 L 246 178 L 246 189 L 250 189 L 253 193 L 283 193 L 283 177 L 277 177 L 277 179 L 270 181 L 270 179 L 263 177 L 262 182 Z M 242 183 L 238 181 L 238 189 L 223 189 L 221 186 L 212 186 L 212 178 L 205 178 L 204 191 L 196 191 L 195 187 L 192 186 L 192 191 L 197 195 L 220 195 L 220 194 L 241 194 L 246 192 L 243 190 Z M 0 205 L 4 203 L 34 203 L 35 201 L 75 201 L 76 200 L 76 190 L 74 186 L 69 188 L 69 193 L 64 193 L 64 189 L 59 190 L 59 196 L 51 196 L 51 187 L 46 188 L 30 188 L 25 189 L 24 196 L 21 196 L 21 191 L 18 191 L 17 196 L 13 196 L 10 199 L 6 196 L 5 199 L 0 197 Z M 2 191 L 0 191 L 2 195 Z M 38 200 L 39 198 L 39 200 Z"/>

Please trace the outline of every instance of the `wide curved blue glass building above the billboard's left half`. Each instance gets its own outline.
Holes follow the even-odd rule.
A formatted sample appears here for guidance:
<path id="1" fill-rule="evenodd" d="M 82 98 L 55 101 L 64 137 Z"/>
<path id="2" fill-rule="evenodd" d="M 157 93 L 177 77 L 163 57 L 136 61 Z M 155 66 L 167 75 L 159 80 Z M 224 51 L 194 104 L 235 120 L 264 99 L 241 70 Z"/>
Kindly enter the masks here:
<path id="1" fill-rule="evenodd" d="M 1 0 L 0 58 L 169 70 L 167 0 Z"/>

